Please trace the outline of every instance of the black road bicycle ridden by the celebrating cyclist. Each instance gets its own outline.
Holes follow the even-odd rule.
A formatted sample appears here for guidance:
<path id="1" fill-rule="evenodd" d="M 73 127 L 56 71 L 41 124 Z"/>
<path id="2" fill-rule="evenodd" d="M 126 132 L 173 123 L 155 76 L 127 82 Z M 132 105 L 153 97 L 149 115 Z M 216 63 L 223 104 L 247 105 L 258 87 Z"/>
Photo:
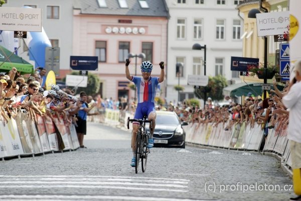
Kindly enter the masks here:
<path id="1" fill-rule="evenodd" d="M 150 153 L 149 149 L 147 148 L 148 144 L 148 137 L 149 134 L 146 132 L 145 123 L 150 123 L 150 130 L 153 130 L 153 120 L 147 120 L 146 116 L 143 117 L 143 120 L 140 119 L 129 119 L 127 118 L 127 129 L 129 129 L 129 122 L 138 122 L 139 129 L 136 136 L 135 141 L 135 156 L 136 156 L 136 164 L 135 164 L 135 172 L 138 173 L 139 169 L 139 161 L 141 159 L 141 168 L 142 172 L 145 172 L 146 163 L 147 163 L 147 155 Z"/>

